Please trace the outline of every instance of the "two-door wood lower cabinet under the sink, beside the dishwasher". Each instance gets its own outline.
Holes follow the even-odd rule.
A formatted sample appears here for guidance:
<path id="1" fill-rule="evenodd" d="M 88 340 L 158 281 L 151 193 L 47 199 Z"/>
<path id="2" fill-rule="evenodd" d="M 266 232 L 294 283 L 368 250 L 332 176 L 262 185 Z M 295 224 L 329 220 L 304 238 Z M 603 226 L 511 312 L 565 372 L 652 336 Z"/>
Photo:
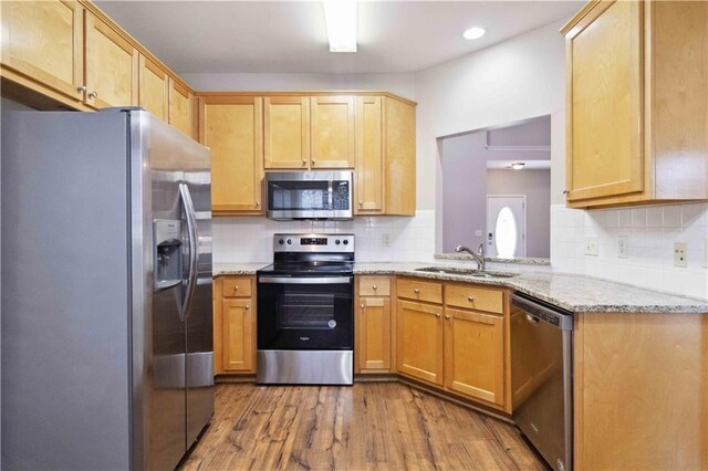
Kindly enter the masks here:
<path id="1" fill-rule="evenodd" d="M 396 295 L 397 373 L 511 412 L 508 293 L 402 278 Z"/>

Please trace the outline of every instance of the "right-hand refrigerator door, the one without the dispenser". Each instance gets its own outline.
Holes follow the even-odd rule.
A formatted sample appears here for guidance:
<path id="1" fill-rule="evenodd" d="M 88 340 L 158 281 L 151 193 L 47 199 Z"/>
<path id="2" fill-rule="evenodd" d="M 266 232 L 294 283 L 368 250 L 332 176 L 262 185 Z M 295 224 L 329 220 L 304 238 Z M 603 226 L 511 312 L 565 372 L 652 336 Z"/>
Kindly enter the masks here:
<path id="1" fill-rule="evenodd" d="M 187 323 L 187 448 L 214 415 L 214 327 L 211 295 L 211 158 L 201 146 L 184 147 L 184 181 L 196 224 L 195 289 Z"/>

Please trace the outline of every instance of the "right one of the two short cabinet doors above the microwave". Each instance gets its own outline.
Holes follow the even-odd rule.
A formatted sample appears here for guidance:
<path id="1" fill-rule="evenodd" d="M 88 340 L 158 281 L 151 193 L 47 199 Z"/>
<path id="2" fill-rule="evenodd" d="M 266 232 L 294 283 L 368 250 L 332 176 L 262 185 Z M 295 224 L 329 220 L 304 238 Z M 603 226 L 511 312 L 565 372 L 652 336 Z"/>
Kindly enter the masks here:
<path id="1" fill-rule="evenodd" d="M 312 168 L 354 167 L 354 97 L 313 96 Z"/>

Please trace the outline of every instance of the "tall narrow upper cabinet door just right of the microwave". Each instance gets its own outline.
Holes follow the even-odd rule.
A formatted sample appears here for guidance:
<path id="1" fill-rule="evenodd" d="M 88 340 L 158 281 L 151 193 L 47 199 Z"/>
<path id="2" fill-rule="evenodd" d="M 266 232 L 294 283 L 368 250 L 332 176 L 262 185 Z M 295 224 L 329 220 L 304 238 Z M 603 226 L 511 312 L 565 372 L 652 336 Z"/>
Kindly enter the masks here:
<path id="1" fill-rule="evenodd" d="M 355 214 L 382 214 L 384 210 L 384 148 L 381 96 L 356 98 L 356 206 Z"/>

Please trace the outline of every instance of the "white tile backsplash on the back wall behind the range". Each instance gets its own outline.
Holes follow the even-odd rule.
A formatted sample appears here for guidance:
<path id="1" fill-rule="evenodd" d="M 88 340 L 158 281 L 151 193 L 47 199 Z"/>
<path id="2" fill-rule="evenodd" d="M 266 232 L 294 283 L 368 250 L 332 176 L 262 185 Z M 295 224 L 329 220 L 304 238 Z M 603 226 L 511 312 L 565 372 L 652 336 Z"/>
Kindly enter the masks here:
<path id="1" fill-rule="evenodd" d="M 356 260 L 433 261 L 435 211 L 409 217 L 357 217 L 353 221 L 272 221 L 263 217 L 218 217 L 212 220 L 214 262 L 271 262 L 278 232 L 354 233 Z M 391 245 L 384 247 L 384 234 Z"/>

